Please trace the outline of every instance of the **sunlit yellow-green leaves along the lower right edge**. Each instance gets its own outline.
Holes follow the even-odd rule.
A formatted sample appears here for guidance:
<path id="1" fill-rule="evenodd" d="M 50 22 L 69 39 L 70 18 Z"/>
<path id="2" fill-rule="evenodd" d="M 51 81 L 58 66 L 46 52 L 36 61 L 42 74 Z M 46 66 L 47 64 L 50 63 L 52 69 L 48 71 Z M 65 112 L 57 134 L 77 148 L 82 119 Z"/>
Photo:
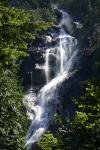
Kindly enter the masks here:
<path id="1" fill-rule="evenodd" d="M 99 149 L 100 139 L 100 78 L 88 81 L 86 94 L 76 100 L 73 129 L 81 149 Z"/>

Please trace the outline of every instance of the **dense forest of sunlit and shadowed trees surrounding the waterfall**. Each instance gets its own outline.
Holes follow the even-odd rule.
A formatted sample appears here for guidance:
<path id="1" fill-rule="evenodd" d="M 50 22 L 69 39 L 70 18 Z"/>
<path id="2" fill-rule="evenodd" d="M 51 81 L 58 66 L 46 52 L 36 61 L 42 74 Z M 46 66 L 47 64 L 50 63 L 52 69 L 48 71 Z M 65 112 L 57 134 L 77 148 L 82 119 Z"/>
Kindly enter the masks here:
<path id="1" fill-rule="evenodd" d="M 56 23 L 51 6 L 77 18 L 77 29 L 90 75 L 80 82 L 84 92 L 71 97 L 74 116 L 55 114 L 56 130 L 37 143 L 41 150 L 100 150 L 100 0 L 1 0 L 0 1 L 0 149 L 25 150 L 28 120 L 22 104 L 20 58 L 27 57 L 31 41 Z"/>

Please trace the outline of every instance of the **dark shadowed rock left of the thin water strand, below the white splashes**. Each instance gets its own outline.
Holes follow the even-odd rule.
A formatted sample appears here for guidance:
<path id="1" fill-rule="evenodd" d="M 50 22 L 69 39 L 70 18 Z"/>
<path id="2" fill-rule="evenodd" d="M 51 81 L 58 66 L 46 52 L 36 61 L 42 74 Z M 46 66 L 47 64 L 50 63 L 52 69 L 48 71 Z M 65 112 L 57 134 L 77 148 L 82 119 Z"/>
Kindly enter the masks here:
<path id="1" fill-rule="evenodd" d="M 30 52 L 21 64 L 21 78 L 25 88 L 29 85 L 41 85 L 45 83 L 45 75 L 42 69 L 36 69 L 36 63 L 42 64 L 43 58 L 40 52 Z"/>

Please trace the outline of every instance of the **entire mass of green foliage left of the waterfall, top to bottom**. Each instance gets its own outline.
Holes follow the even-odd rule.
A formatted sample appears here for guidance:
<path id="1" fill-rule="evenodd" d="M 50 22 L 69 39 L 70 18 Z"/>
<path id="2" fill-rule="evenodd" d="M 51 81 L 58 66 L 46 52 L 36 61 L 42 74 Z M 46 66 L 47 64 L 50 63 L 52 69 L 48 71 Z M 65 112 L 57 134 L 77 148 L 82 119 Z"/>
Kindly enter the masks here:
<path id="1" fill-rule="evenodd" d="M 30 11 L 10 7 L 0 2 L 0 149 L 24 150 L 27 119 L 19 85 L 18 59 L 27 56 L 30 41 L 51 22 L 34 20 Z"/>

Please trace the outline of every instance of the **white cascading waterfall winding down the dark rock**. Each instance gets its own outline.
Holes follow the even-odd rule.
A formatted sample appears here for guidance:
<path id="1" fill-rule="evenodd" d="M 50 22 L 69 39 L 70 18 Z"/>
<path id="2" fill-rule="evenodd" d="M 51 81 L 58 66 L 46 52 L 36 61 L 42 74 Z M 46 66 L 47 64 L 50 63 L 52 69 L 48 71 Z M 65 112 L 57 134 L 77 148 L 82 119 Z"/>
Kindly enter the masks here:
<path id="1" fill-rule="evenodd" d="M 55 100 L 57 88 L 75 71 L 74 65 L 77 61 L 78 53 L 77 39 L 66 33 L 63 27 L 66 22 L 65 19 L 68 18 L 68 28 L 71 22 L 69 22 L 70 19 L 68 14 L 66 15 L 65 12 L 62 12 L 62 15 L 60 34 L 57 37 L 57 46 L 47 49 L 45 53 L 44 70 L 47 82 L 38 93 L 37 105 L 32 105 L 35 117 L 32 120 L 31 127 L 28 131 L 26 145 L 30 145 L 38 141 L 48 128 L 49 122 L 52 120 L 53 113 L 55 113 L 53 107 L 56 106 L 57 103 L 57 100 Z M 50 64 L 52 56 L 55 56 L 55 64 Z M 50 79 L 51 68 L 55 68 L 55 76 L 53 79 Z"/>

